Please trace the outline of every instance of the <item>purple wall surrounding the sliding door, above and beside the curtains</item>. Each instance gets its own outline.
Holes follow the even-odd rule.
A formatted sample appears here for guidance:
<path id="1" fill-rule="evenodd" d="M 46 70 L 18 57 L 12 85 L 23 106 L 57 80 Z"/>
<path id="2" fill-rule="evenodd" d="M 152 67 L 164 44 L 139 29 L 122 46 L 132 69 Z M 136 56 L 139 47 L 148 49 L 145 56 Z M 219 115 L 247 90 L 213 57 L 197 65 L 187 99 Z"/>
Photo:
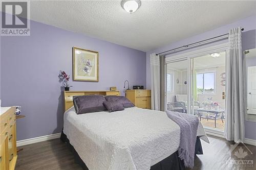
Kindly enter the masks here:
<path id="1" fill-rule="evenodd" d="M 242 33 L 243 50 L 255 48 L 256 47 L 256 43 L 255 43 L 255 39 L 256 39 L 256 30 L 255 30 L 256 29 L 256 15 L 244 18 L 243 20 L 239 20 L 237 22 L 230 23 L 226 26 L 223 26 L 223 27 L 220 27 L 220 28 L 202 33 L 200 35 L 196 35 L 196 36 L 187 38 L 187 39 L 183 39 L 181 41 L 178 41 L 178 42 L 166 45 L 164 47 L 158 48 L 156 50 L 147 52 L 146 53 L 146 87 L 148 89 L 151 88 L 150 54 L 160 53 L 160 52 L 163 52 L 163 51 L 166 51 L 166 50 L 170 50 L 172 48 L 187 45 L 189 43 L 193 43 L 193 42 L 201 41 L 201 40 L 204 40 L 204 39 L 212 38 L 212 37 L 215 37 L 215 36 L 219 36 L 219 35 L 222 35 L 222 34 L 226 34 L 226 33 L 229 32 L 230 29 L 236 28 L 236 27 L 239 27 L 239 26 L 244 28 L 244 31 Z M 210 46 L 210 45 L 216 45 L 216 44 L 225 43 L 225 42 L 227 42 L 227 40 L 220 41 L 220 42 L 217 42 L 217 43 L 214 43 L 214 44 L 204 45 L 202 47 L 207 47 L 207 46 Z M 198 47 L 198 48 L 194 48 L 194 49 L 191 49 L 191 50 L 183 51 L 183 52 L 180 52 L 180 53 L 177 53 L 177 54 L 197 50 L 197 49 L 202 48 L 202 47 Z M 256 129 L 256 123 L 245 121 L 245 132 L 246 132 L 245 137 L 246 138 L 256 140 L 255 129 Z"/>

